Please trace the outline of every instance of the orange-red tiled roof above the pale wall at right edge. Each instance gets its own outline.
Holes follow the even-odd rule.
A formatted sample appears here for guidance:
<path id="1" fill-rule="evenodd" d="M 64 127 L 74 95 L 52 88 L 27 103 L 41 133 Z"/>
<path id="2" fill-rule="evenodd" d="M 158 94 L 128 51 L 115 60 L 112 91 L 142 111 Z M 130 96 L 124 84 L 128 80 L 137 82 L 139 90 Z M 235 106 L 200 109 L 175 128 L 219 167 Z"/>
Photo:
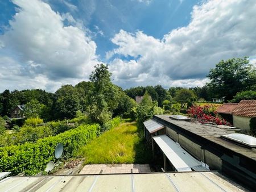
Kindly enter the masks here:
<path id="1" fill-rule="evenodd" d="M 232 111 L 233 115 L 256 117 L 256 100 L 242 100 Z"/>

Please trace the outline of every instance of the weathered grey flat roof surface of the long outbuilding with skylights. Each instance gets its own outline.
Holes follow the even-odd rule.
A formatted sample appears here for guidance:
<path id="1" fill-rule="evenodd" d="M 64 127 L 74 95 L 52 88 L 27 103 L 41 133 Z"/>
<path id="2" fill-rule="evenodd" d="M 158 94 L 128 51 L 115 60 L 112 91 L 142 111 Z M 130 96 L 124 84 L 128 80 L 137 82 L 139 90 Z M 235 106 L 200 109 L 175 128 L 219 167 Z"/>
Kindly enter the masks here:
<path id="1" fill-rule="evenodd" d="M 254 161 L 256 160 L 256 148 L 242 147 L 241 145 L 235 144 L 232 141 L 221 138 L 221 135 L 236 133 L 236 130 L 207 126 L 196 122 L 173 120 L 170 119 L 169 116 L 170 115 L 154 115 L 153 118 L 156 118 L 160 123 L 163 123 L 167 127 L 171 125 L 179 127 L 180 131 L 189 133 L 193 137 L 199 136 L 201 139 L 212 141 L 221 147 L 224 147 L 245 157 L 249 157 Z"/>

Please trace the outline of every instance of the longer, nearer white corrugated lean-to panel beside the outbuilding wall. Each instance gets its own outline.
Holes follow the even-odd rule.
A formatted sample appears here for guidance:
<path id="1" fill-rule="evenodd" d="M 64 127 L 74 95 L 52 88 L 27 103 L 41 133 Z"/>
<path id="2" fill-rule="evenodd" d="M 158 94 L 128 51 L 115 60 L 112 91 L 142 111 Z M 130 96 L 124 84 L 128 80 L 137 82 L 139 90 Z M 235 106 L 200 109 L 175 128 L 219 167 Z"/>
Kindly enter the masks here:
<path id="1" fill-rule="evenodd" d="M 191 168 L 197 170 L 209 170 L 206 166 L 202 165 L 202 162 L 192 157 L 168 136 L 159 135 L 153 137 L 153 139 L 178 172 L 191 172 Z"/>

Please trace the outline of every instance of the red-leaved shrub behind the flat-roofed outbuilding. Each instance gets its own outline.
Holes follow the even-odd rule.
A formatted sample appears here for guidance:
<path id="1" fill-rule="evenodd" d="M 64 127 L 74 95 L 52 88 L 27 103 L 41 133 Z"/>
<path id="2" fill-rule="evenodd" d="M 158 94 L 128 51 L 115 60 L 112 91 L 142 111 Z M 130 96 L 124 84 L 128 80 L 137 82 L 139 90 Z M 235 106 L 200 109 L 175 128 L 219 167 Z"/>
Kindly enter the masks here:
<path id="1" fill-rule="evenodd" d="M 189 107 L 187 114 L 192 118 L 199 120 L 199 123 L 215 123 L 218 125 L 223 124 L 230 126 L 230 123 L 225 119 L 216 116 L 216 108 L 214 109 L 213 107 L 214 106 L 209 105 L 203 107 L 193 105 L 192 107 Z"/>

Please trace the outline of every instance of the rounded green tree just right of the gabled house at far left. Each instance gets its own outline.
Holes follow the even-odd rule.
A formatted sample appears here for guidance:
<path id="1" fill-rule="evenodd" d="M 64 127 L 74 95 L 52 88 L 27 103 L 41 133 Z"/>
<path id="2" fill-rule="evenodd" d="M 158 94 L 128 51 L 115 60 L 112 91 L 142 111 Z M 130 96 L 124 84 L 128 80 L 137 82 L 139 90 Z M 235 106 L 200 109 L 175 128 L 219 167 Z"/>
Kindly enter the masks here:
<path id="1" fill-rule="evenodd" d="M 26 118 L 41 117 L 43 113 L 43 108 L 45 107 L 46 106 L 39 103 L 38 100 L 32 99 L 30 102 L 27 102 L 24 107 L 24 116 L 26 116 Z"/>

